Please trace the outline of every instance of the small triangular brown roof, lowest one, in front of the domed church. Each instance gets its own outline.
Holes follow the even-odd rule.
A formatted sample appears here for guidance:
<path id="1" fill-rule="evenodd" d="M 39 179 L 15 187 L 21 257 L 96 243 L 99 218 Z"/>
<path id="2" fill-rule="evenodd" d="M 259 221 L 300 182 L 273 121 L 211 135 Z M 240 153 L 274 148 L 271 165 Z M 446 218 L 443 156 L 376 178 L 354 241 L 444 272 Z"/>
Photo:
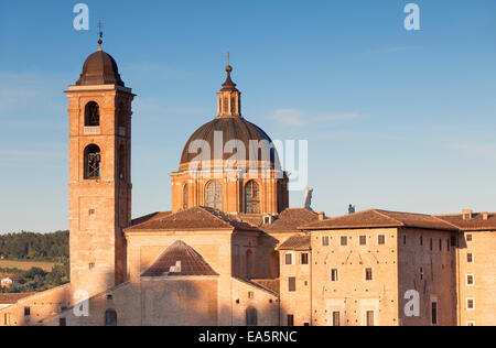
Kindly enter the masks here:
<path id="1" fill-rule="evenodd" d="M 141 276 L 218 275 L 192 247 L 177 240 Z"/>

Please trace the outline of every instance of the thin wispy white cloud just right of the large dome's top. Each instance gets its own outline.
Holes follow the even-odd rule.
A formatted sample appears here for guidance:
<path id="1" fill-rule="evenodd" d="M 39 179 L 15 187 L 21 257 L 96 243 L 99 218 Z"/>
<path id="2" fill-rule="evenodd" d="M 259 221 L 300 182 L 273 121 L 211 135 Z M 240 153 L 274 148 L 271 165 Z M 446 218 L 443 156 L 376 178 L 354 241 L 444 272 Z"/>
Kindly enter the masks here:
<path id="1" fill-rule="evenodd" d="M 290 127 L 303 127 L 316 123 L 346 121 L 359 118 L 358 112 L 310 112 L 298 109 L 277 109 L 270 112 L 270 118 Z"/>

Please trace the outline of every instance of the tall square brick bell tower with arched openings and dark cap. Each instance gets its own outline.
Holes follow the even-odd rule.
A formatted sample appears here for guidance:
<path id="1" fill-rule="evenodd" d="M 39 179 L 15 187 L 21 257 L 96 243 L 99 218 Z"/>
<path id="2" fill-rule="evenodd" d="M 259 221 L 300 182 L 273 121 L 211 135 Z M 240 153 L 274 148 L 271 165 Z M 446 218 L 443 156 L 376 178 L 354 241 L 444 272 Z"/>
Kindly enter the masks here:
<path id="1" fill-rule="evenodd" d="M 69 243 L 73 292 L 89 296 L 126 281 L 131 222 L 131 102 L 114 58 L 101 50 L 65 91 L 69 115 Z"/>

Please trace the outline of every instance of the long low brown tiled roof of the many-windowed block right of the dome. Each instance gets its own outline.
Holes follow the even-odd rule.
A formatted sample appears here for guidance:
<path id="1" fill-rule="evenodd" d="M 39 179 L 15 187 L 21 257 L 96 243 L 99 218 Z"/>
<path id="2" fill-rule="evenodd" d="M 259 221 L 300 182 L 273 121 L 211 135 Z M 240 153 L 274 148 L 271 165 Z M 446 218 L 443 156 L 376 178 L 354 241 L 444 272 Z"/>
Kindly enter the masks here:
<path id="1" fill-rule="evenodd" d="M 309 224 L 302 226 L 301 229 L 354 229 L 379 227 L 412 227 L 457 231 L 457 228 L 452 224 L 430 215 L 387 211 L 379 209 L 365 210 L 315 224 Z"/>

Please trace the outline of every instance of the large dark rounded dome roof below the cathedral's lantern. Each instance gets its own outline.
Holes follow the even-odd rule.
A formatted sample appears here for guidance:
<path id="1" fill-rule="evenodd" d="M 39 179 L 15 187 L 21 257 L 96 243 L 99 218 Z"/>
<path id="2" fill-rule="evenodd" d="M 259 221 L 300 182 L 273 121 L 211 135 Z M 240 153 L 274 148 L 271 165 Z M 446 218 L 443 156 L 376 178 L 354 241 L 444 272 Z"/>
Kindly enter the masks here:
<path id="1" fill-rule="evenodd" d="M 219 132 L 219 133 L 218 133 Z M 195 157 L 198 156 L 198 153 L 195 150 L 195 141 L 205 141 L 211 148 L 211 160 L 214 160 L 214 149 L 215 149 L 215 138 L 216 133 L 222 133 L 222 149 L 226 148 L 226 144 L 229 141 L 238 140 L 245 145 L 245 154 L 237 152 L 234 150 L 234 153 L 237 153 L 239 156 L 238 161 L 249 161 L 250 148 L 254 148 L 252 153 L 258 152 L 258 144 L 260 141 L 266 141 L 266 144 L 271 144 L 272 140 L 270 137 L 258 126 L 248 122 L 241 117 L 217 117 L 213 121 L 205 123 L 201 128 L 198 128 L 190 140 L 186 142 L 186 145 L 183 150 L 183 155 L 181 156 L 181 165 L 187 164 L 192 162 Z M 218 135 L 217 135 L 218 137 Z M 256 142 L 252 142 L 256 141 Z M 218 146 L 219 144 L 217 144 Z M 192 153 L 193 152 L 193 153 Z M 226 153 L 223 151 L 223 160 L 229 160 L 233 157 L 234 153 Z M 204 157 L 205 159 L 205 157 Z M 207 156 L 208 159 L 208 156 Z M 260 159 L 259 159 L 260 160 Z M 276 162 L 276 151 L 270 151 L 270 162 Z"/>

